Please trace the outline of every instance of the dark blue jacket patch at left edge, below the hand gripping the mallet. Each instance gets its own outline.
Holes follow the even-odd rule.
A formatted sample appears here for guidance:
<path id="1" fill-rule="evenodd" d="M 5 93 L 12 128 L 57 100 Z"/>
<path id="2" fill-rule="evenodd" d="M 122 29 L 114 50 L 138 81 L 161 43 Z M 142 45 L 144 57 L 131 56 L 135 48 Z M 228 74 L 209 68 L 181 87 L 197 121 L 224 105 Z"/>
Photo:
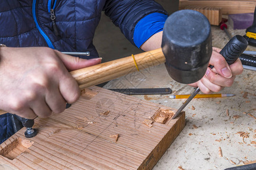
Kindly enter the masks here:
<path id="1" fill-rule="evenodd" d="M 0 144 L 5 142 L 14 134 L 13 123 L 11 122 L 11 114 L 6 113 L 0 115 Z"/>

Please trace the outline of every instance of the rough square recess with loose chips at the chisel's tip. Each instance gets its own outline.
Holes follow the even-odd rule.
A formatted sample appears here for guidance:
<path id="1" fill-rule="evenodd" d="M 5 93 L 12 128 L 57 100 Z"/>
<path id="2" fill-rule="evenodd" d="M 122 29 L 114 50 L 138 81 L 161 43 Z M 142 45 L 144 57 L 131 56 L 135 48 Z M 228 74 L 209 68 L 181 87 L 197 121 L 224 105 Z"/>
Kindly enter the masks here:
<path id="1" fill-rule="evenodd" d="M 174 116 L 174 111 L 172 111 L 171 109 L 161 109 L 159 108 L 155 114 L 152 116 L 152 119 L 155 122 L 159 122 L 161 124 L 166 124 L 166 122 L 168 122 L 171 117 Z"/>

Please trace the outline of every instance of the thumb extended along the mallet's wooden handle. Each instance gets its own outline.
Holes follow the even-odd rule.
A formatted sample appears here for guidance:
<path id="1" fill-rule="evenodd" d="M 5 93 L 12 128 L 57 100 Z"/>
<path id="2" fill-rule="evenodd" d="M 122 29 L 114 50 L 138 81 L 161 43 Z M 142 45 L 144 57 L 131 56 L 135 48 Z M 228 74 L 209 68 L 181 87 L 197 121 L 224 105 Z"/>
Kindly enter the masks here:
<path id="1" fill-rule="evenodd" d="M 65 67 L 69 70 L 82 69 L 84 67 L 89 67 L 101 63 L 102 58 L 92 58 L 92 59 L 83 59 L 79 57 L 69 56 L 67 54 L 58 53 L 61 61 L 64 63 Z"/>

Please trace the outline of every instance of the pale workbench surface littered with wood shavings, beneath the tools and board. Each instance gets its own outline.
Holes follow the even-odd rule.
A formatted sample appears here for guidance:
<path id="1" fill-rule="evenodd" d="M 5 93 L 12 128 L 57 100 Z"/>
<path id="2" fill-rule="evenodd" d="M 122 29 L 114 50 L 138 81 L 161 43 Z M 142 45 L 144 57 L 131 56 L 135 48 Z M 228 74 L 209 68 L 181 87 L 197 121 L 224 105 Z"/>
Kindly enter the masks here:
<path id="1" fill-rule="evenodd" d="M 230 28 L 230 27 L 229 27 Z M 245 30 L 228 29 L 232 36 Z M 213 46 L 223 48 L 228 42 L 225 32 L 212 27 Z M 246 50 L 256 48 L 249 47 Z M 256 72 L 244 70 L 233 86 L 222 94 L 233 97 L 193 99 L 184 109 L 186 126 L 168 148 L 154 169 L 225 169 L 256 160 Z M 104 88 L 170 87 L 172 95 L 192 94 L 195 88 L 175 82 L 165 66 L 151 67 L 110 81 Z M 247 94 L 247 96 L 246 96 Z M 142 95 L 139 99 L 178 109 L 186 99 L 169 99 L 170 95 Z M 195 109 L 192 109 L 192 106 Z M 227 110 L 229 113 L 227 113 Z M 245 132 L 241 137 L 238 132 Z M 247 134 L 248 135 L 247 135 Z M 219 147 L 222 157 L 219 155 Z M 236 164 L 236 165 L 235 165 Z"/>

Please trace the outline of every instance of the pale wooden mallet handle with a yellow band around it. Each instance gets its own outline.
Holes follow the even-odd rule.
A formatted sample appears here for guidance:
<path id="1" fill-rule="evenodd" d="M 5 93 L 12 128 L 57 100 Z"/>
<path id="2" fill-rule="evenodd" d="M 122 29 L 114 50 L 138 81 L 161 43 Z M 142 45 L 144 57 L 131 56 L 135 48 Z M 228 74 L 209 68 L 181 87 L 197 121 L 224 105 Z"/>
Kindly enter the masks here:
<path id="1" fill-rule="evenodd" d="M 137 63 L 138 69 L 142 70 L 166 61 L 161 48 L 136 54 L 134 58 L 132 56 L 119 58 L 84 69 L 71 71 L 70 73 L 76 79 L 79 88 L 82 90 L 86 87 L 108 82 L 109 80 L 138 71 L 135 62 Z M 7 112 L 0 110 L 0 115 L 5 113 Z"/>

